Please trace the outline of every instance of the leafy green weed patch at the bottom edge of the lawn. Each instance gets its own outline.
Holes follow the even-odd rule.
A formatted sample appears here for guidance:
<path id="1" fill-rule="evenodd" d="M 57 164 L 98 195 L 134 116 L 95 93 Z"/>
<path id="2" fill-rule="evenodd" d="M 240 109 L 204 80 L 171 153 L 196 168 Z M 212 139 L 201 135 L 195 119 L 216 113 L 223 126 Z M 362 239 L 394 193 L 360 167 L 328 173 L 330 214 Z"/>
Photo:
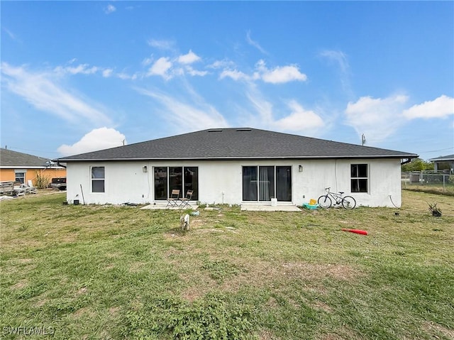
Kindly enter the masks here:
<path id="1" fill-rule="evenodd" d="M 251 313 L 231 307 L 219 295 L 187 302 L 178 297 L 157 297 L 140 310 L 126 313 L 127 339 L 255 339 Z"/>

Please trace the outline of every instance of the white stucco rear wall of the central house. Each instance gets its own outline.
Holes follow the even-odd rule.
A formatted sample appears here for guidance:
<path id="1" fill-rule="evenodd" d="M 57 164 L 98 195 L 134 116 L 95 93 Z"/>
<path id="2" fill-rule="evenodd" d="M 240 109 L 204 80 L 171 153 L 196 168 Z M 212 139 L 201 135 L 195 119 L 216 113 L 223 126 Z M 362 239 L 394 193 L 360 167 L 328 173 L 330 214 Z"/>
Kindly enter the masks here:
<path id="1" fill-rule="evenodd" d="M 352 194 L 350 165 L 364 163 L 368 165 L 369 190 Z M 145 165 L 148 172 L 143 172 Z M 292 204 L 301 205 L 311 198 L 318 199 L 325 187 L 331 187 L 334 192 L 344 191 L 355 197 L 358 205 L 393 207 L 393 202 L 397 207 L 401 205 L 399 159 L 74 162 L 67 163 L 67 200 L 79 199 L 85 204 L 153 203 L 153 167 L 196 166 L 199 168 L 200 202 L 241 204 L 243 165 L 291 165 Z M 299 172 L 299 165 L 303 167 L 302 172 Z M 103 193 L 91 190 L 91 166 L 105 167 Z"/>

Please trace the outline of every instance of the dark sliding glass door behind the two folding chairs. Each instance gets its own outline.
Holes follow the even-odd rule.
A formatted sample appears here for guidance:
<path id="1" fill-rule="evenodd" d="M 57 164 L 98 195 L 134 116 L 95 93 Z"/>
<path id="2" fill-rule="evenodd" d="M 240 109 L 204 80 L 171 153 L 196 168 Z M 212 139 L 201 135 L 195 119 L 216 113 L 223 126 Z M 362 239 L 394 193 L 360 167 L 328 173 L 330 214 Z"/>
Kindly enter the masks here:
<path id="1" fill-rule="evenodd" d="M 192 190 L 192 199 L 199 199 L 199 168 L 197 167 L 155 167 L 155 199 L 168 198 L 169 192 L 179 190 L 185 197 Z"/>

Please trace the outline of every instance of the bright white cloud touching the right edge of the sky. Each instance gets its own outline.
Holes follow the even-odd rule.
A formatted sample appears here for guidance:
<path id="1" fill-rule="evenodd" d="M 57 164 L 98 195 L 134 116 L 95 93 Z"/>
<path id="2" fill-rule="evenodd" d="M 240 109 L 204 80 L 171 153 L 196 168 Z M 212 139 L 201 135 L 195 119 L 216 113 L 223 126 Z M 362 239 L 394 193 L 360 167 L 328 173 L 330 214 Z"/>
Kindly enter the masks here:
<path id="1" fill-rule="evenodd" d="M 407 119 L 444 118 L 452 114 L 454 114 L 454 98 L 444 94 L 431 102 L 423 102 L 404 110 L 404 117 Z"/>

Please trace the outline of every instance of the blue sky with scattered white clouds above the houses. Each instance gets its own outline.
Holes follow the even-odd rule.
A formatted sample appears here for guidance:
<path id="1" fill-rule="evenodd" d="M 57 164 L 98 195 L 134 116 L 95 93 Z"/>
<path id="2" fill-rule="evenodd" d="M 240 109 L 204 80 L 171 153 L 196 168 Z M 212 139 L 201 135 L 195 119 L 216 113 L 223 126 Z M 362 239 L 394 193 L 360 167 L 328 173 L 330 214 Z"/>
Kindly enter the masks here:
<path id="1" fill-rule="evenodd" d="M 252 127 L 454 153 L 453 1 L 0 6 L 2 148 L 57 158 Z"/>

